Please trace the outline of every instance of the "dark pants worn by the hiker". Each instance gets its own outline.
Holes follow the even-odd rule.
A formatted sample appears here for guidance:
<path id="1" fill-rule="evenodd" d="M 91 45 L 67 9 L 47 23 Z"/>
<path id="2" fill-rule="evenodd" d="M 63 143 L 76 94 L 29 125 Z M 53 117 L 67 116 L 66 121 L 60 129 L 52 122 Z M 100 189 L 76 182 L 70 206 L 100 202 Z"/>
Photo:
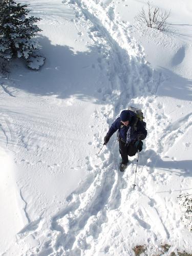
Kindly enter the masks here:
<path id="1" fill-rule="evenodd" d="M 125 142 L 121 139 L 119 140 L 119 153 L 122 158 L 122 163 L 127 164 L 129 162 L 128 156 L 135 156 L 137 153 L 137 148 L 135 147 L 135 143 L 130 143 L 128 146 L 125 146 Z"/>

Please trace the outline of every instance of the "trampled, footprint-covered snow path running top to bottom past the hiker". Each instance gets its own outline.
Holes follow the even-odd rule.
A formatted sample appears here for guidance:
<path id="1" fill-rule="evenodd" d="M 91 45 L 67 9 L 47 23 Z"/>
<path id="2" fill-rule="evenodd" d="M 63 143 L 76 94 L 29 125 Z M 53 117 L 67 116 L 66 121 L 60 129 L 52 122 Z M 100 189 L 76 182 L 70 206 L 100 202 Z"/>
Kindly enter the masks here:
<path id="1" fill-rule="evenodd" d="M 138 170 L 136 193 L 132 190 L 136 160 L 131 161 L 125 173 L 119 173 L 118 145 L 111 139 L 109 148 L 103 148 L 99 157 L 87 156 L 87 179 L 67 198 L 66 207 L 52 217 L 42 216 L 33 222 L 26 212 L 30 223 L 17 234 L 17 244 L 23 246 L 22 255 L 132 255 L 138 233 L 144 237 L 139 240 L 141 243 L 151 237 L 148 243 L 160 244 L 170 241 L 175 228 L 166 227 L 166 219 L 173 218 L 179 225 L 175 210 L 169 211 L 168 205 L 172 202 L 165 198 L 166 201 L 162 199 L 157 203 L 156 189 L 152 195 L 149 188 L 155 187 L 155 182 L 166 183 L 169 174 L 153 174 L 155 163 L 148 165 L 148 162 L 153 162 L 156 152 L 160 155 L 182 136 L 191 125 L 191 113 L 169 124 L 163 105 L 156 97 L 164 78 L 147 65 L 143 49 L 129 35 L 129 24 L 116 18 L 112 1 L 105 1 L 104 5 L 93 0 L 63 3 L 74 9 L 77 28 L 82 24 L 89 26 L 89 36 L 100 55 L 98 65 L 109 76 L 109 87 L 103 87 L 100 93 L 111 104 L 103 107 L 100 113 L 95 111 L 92 118 L 97 122 L 102 116 L 110 116 L 111 123 L 128 105 L 140 106 L 148 128 L 146 148 L 140 158 L 142 167 Z M 8 143 L 13 133 L 8 122 L 6 126 L 6 120 L 1 115 L 0 129 Z M 166 127 L 166 133 L 163 127 Z M 93 144 L 98 148 L 104 132 L 95 134 Z M 18 127 L 16 133 L 17 143 L 29 147 L 22 136 L 22 127 Z M 30 131 L 28 134 L 30 137 Z M 27 202 L 23 201 L 26 211 Z"/>

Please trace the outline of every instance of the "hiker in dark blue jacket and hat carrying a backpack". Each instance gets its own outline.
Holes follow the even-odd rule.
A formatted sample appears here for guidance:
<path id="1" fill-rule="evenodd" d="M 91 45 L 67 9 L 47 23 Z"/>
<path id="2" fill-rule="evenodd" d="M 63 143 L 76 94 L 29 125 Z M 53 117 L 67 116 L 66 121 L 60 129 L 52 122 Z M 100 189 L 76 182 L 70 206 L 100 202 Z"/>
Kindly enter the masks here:
<path id="1" fill-rule="evenodd" d="M 137 118 L 136 113 L 131 110 L 123 110 L 111 125 L 108 133 L 104 137 L 104 144 L 108 144 L 111 136 L 118 130 L 118 141 L 119 141 L 119 153 L 122 158 L 120 164 L 120 171 L 124 172 L 129 159 L 128 156 L 132 157 L 140 151 L 147 135 L 145 129 L 145 122 Z"/>

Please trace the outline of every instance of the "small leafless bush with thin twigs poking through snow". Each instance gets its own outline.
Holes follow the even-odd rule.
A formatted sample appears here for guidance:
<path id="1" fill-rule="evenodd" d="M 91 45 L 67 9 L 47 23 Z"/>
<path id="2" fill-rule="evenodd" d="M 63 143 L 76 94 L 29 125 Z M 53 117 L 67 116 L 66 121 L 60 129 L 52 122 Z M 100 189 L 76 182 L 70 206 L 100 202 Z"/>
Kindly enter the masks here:
<path id="1" fill-rule="evenodd" d="M 166 12 L 159 7 L 153 7 L 150 1 L 147 2 L 147 11 L 142 10 L 135 16 L 135 20 L 138 22 L 146 23 L 147 27 L 155 28 L 158 30 L 165 30 L 167 26 L 167 18 L 170 16 L 170 11 Z"/>

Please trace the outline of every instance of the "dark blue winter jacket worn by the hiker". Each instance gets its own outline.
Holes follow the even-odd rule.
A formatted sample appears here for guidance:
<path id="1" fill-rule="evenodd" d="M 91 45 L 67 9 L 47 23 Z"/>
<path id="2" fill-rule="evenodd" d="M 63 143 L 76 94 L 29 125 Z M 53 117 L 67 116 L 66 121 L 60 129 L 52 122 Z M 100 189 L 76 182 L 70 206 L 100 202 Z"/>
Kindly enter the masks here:
<path id="1" fill-rule="evenodd" d="M 121 122 L 120 117 L 118 117 L 112 123 L 112 125 L 106 135 L 110 138 L 118 130 L 119 131 L 119 133 L 118 133 L 119 139 L 123 140 L 127 144 L 137 141 L 138 135 L 140 135 L 140 134 L 142 134 L 143 139 L 145 139 L 146 135 L 147 135 L 147 131 L 143 125 L 143 122 L 141 122 L 140 120 L 137 121 L 137 117 L 134 112 L 130 111 L 130 114 L 132 115 L 132 118 L 131 118 L 129 125 L 125 126 Z M 136 129 L 134 127 L 135 123 L 136 123 Z"/>

